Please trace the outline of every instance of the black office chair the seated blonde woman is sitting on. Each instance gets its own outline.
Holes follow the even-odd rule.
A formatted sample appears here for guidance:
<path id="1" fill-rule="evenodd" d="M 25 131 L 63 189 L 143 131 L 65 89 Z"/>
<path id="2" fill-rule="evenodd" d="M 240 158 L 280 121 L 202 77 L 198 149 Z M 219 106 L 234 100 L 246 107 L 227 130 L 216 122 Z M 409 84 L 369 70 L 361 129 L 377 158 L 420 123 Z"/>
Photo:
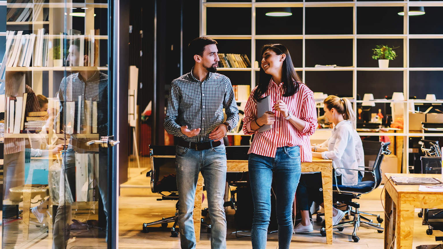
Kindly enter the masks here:
<path id="1" fill-rule="evenodd" d="M 381 162 L 383 161 L 385 155 L 391 154 L 391 152 L 388 149 L 388 146 L 390 144 L 389 142 L 388 143 L 375 142 L 375 141 L 362 141 L 362 142 L 363 142 L 363 150 L 365 151 L 365 161 L 368 158 L 370 160 L 371 156 L 376 155 L 374 163 L 372 165 L 372 169 L 370 171 L 368 170 L 362 171 L 357 169 L 336 168 L 335 170 L 353 170 L 359 172 L 367 172 L 372 175 L 372 180 L 362 181 L 354 186 L 333 184 L 333 201 L 347 205 L 348 206 L 348 210 L 346 210 L 347 214 L 354 216 L 354 219 L 352 221 L 339 222 L 337 225 L 333 226 L 333 228 L 337 228 L 339 231 L 342 231 L 343 227 L 353 226 L 354 232 L 352 233 L 352 239 L 354 240 L 354 242 L 358 242 L 360 240 L 360 238 L 357 236 L 357 230 L 360 226 L 375 229 L 379 233 L 383 233 L 384 229 L 380 225 L 380 223 L 383 222 L 383 219 L 380 218 L 380 215 L 360 212 L 359 211 L 360 204 L 358 204 L 357 202 L 353 202 L 352 200 L 359 199 L 361 195 L 368 194 L 374 189 L 376 189 L 378 186 L 380 186 L 382 180 Z M 376 151 L 377 154 L 375 154 L 374 151 Z M 353 210 L 352 207 L 354 207 L 355 210 Z M 376 216 L 377 221 L 380 223 L 373 223 L 372 220 L 365 218 L 361 214 Z M 361 221 L 361 219 L 366 220 L 366 222 Z M 320 233 L 323 237 L 326 236 L 326 228 L 324 225 L 321 228 Z"/>

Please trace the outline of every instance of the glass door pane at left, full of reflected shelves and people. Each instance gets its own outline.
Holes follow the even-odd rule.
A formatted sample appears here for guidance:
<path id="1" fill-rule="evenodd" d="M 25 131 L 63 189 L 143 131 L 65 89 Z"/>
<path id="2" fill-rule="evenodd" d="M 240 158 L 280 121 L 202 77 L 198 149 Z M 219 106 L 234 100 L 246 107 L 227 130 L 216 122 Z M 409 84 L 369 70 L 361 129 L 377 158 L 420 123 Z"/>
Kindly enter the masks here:
<path id="1" fill-rule="evenodd" d="M 2 248 L 108 248 L 108 7 L 8 0 Z"/>

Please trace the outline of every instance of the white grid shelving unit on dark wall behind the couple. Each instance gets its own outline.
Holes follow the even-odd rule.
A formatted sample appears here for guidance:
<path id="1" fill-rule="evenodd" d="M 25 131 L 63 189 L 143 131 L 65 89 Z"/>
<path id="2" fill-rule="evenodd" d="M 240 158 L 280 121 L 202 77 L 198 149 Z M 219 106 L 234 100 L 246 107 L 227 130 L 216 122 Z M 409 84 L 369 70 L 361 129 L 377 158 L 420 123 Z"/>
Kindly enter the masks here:
<path id="1" fill-rule="evenodd" d="M 210 0 L 201 0 L 200 1 L 200 36 L 208 36 L 210 38 L 216 39 L 218 43 L 222 44 L 225 40 L 237 40 L 241 41 L 243 44 L 245 40 L 248 40 L 250 42 L 250 51 L 242 51 L 241 53 L 250 53 L 249 59 L 251 60 L 251 64 L 254 65 L 255 61 L 259 61 L 260 58 L 257 58 L 260 53 L 260 47 L 261 45 L 257 45 L 257 43 L 262 43 L 263 40 L 276 40 L 277 43 L 297 43 L 300 45 L 297 45 L 297 51 L 294 53 L 291 51 L 291 48 L 288 47 L 292 60 L 294 62 L 295 70 L 297 73 L 299 73 L 300 77 L 302 78 L 303 82 L 306 82 L 308 86 L 312 86 L 312 88 L 316 89 L 322 89 L 326 87 L 326 83 L 320 83 L 318 85 L 311 85 L 310 81 L 312 80 L 313 76 L 317 74 L 334 74 L 334 75 L 346 75 L 347 78 L 350 78 L 350 81 L 347 82 L 345 85 L 349 86 L 349 93 L 352 93 L 352 96 L 354 99 L 357 97 L 359 93 L 359 89 L 367 89 L 369 86 L 365 86 L 366 83 L 365 79 L 363 77 L 389 77 L 394 78 L 395 82 L 397 84 L 392 84 L 393 87 L 398 90 L 394 90 L 389 92 L 385 92 L 385 95 L 392 95 L 392 92 L 402 92 L 404 93 L 405 99 L 404 101 L 386 101 L 386 100 L 376 100 L 373 101 L 374 103 L 380 104 L 389 104 L 389 103 L 400 103 L 404 105 L 404 130 L 397 131 L 397 133 L 389 133 L 389 136 L 394 137 L 403 137 L 403 144 L 404 144 L 404 152 L 409 151 L 409 138 L 410 137 L 416 137 L 416 136 L 432 136 L 432 137 L 438 137 L 442 136 L 442 133 L 416 133 L 409 130 L 409 115 L 408 115 L 408 105 L 409 104 L 429 104 L 429 103 L 436 103 L 441 104 L 443 103 L 443 93 L 441 94 L 441 97 L 437 97 L 436 101 L 425 101 L 424 96 L 421 96 L 419 98 L 422 98 L 422 100 L 415 100 L 415 99 L 409 99 L 408 96 L 416 95 L 415 90 L 413 90 L 413 87 L 416 87 L 413 82 L 411 82 L 411 77 L 414 74 L 435 74 L 439 75 L 439 71 L 442 71 L 443 63 L 442 65 L 437 65 L 433 67 L 427 67 L 427 66 L 421 66 L 420 64 L 427 65 L 429 63 L 420 63 L 417 62 L 420 60 L 420 58 L 416 59 L 413 56 L 416 56 L 417 54 L 415 50 L 415 44 L 420 43 L 422 41 L 424 42 L 433 42 L 431 39 L 443 39 L 443 32 L 423 32 L 420 33 L 420 31 L 417 31 L 417 25 L 414 23 L 420 23 L 421 19 L 417 19 L 418 16 L 408 16 L 404 15 L 401 16 L 400 19 L 396 19 L 395 25 L 396 27 L 390 28 L 388 31 L 382 30 L 380 33 L 377 32 L 364 32 L 361 31 L 364 28 L 366 30 L 370 29 L 371 27 L 363 27 L 362 25 L 359 26 L 360 23 L 362 23 L 362 20 L 367 18 L 368 11 L 370 8 L 371 10 L 387 10 L 387 9 L 395 9 L 400 11 L 407 12 L 408 8 L 413 6 L 424 6 L 426 10 L 425 15 L 437 15 L 435 13 L 438 13 L 442 10 L 443 2 L 442 1 L 342 1 L 342 2 L 314 2 L 314 1 L 299 1 L 299 2 L 258 2 L 257 0 L 251 0 L 251 1 L 241 1 L 241 2 L 212 2 Z M 294 34 L 288 34 L 288 32 L 284 31 L 285 34 L 274 32 L 272 33 L 272 29 L 268 28 L 267 31 L 260 31 L 260 27 L 258 27 L 259 23 L 260 25 L 264 25 L 261 19 L 263 16 L 261 13 L 263 12 L 260 8 L 277 8 L 277 7 L 291 7 L 292 12 L 294 13 L 301 13 L 299 19 L 297 21 L 293 21 L 291 25 L 294 27 L 286 27 L 287 29 L 293 29 Z M 313 19 L 313 13 L 319 11 L 324 11 L 327 7 L 336 7 L 341 9 L 348 10 L 348 16 L 349 19 L 346 21 L 346 27 L 348 28 L 346 31 L 340 32 L 339 34 L 324 34 L 324 33 L 315 33 L 312 31 L 312 28 L 309 28 L 309 23 Z M 235 10 L 233 13 L 243 13 L 243 17 L 250 18 L 249 20 L 242 19 L 244 21 L 244 25 L 249 25 L 250 27 L 244 28 L 244 33 L 240 34 L 236 32 L 235 34 L 228 34 L 225 32 L 225 29 L 221 29 L 223 31 L 222 34 L 217 33 L 218 26 L 215 26 L 213 23 L 210 23 L 210 19 L 208 18 L 208 12 L 210 14 L 214 13 L 215 8 L 224 8 L 224 9 L 232 9 Z M 334 8 L 334 9 L 336 9 Z M 323 13 L 323 12 L 322 12 Z M 441 12 L 440 12 L 441 13 Z M 396 14 L 395 14 L 396 15 Z M 245 17 L 246 16 L 246 17 Z M 369 15 L 370 16 L 370 15 Z M 427 16 L 427 18 L 428 18 Z M 278 19 L 278 17 L 274 17 Z M 294 17 L 295 18 L 295 17 Z M 297 17 L 298 18 L 298 17 Z M 415 19 L 414 19 L 415 18 Z M 374 22 L 377 23 L 377 20 L 375 18 Z M 211 19 L 212 20 L 212 19 Z M 383 22 L 384 20 L 381 19 L 378 22 Z M 222 22 L 223 23 L 223 22 Z M 223 23 L 226 24 L 226 23 Z M 339 25 L 342 25 L 343 23 L 337 23 Z M 229 23 L 227 23 L 229 25 Z M 300 26 L 298 26 L 300 25 Z M 344 25 L 344 24 L 343 24 Z M 395 26 L 392 25 L 392 26 Z M 423 25 L 423 24 L 422 24 Z M 328 26 L 329 27 L 329 26 Z M 278 29 L 278 27 L 276 27 Z M 307 30 L 311 29 L 311 30 Z M 321 29 L 321 27 L 320 27 Z M 298 30 L 298 31 L 297 31 Z M 301 31 L 300 31 L 301 30 Z M 344 30 L 344 29 L 343 29 Z M 393 31 L 392 33 L 389 33 L 389 31 Z M 298 32 L 298 33 L 297 33 Z M 267 34 L 263 34 L 267 33 Z M 268 34 L 270 33 L 270 34 Z M 326 32 L 325 32 L 326 33 Z M 389 68 L 378 68 L 374 62 L 369 62 L 370 54 L 366 55 L 365 57 L 362 57 L 363 52 L 358 50 L 358 48 L 363 48 L 364 44 L 368 41 L 370 42 L 374 41 L 374 43 L 371 45 L 375 47 L 377 44 L 381 43 L 388 43 L 389 41 L 398 41 L 400 44 L 400 48 L 398 48 L 396 51 L 398 51 L 398 54 L 401 54 L 396 60 L 390 61 L 391 67 Z M 295 42 L 299 40 L 299 42 Z M 323 42 L 324 44 L 327 44 L 330 42 L 334 42 L 334 40 L 341 40 L 343 43 L 346 43 L 346 50 L 350 51 L 351 57 L 348 58 L 348 61 L 350 61 L 349 65 L 338 65 L 338 63 L 331 62 L 328 64 L 337 64 L 338 66 L 349 66 L 349 67 L 335 67 L 335 68 L 315 68 L 312 64 L 312 56 L 310 54 L 310 47 L 312 47 L 312 44 L 317 43 L 318 41 Z M 439 41 L 440 40 L 435 40 Z M 414 46 L 412 46 L 413 43 Z M 372 47 L 371 47 L 372 48 Z M 220 51 L 220 49 L 219 49 Z M 229 53 L 228 50 L 223 50 L 221 53 Z M 299 54 L 297 56 L 294 56 L 294 54 Z M 369 58 L 367 58 L 369 56 Z M 301 62 L 299 60 L 301 59 Z M 370 58 L 372 60 L 372 58 Z M 315 60 L 314 60 L 315 61 Z M 368 61 L 368 62 L 365 62 Z M 372 64 L 371 64 L 372 63 Z M 298 65 L 300 64 L 300 65 Z M 322 64 L 319 62 L 316 62 L 315 64 Z M 326 65 L 326 64 L 325 64 Z M 362 65 L 362 66 L 360 66 Z M 221 74 L 225 74 L 226 71 L 241 71 L 243 74 L 250 73 L 251 78 L 251 89 L 255 87 L 255 84 L 258 80 L 258 71 L 260 68 L 243 68 L 241 70 L 239 69 L 218 69 Z M 229 76 L 228 76 L 229 77 Z M 361 78 L 360 78 L 361 77 Z M 402 77 L 400 79 L 400 77 Z M 416 76 L 417 77 L 417 76 Z M 429 76 L 431 78 L 431 76 Z M 435 78 L 435 76 L 434 76 Z M 231 79 L 232 80 L 232 79 Z M 359 83 L 360 82 L 360 85 Z M 317 83 L 317 82 L 316 82 Z M 417 83 L 416 83 L 417 84 Z M 395 85 L 395 86 L 394 86 Z M 366 87 L 366 88 L 365 88 Z M 374 86 L 375 87 L 375 86 Z M 311 89 L 312 89 L 311 88 Z M 388 89 L 391 89 L 388 88 Z M 441 89 L 441 87 L 440 87 Z M 314 90 L 314 89 L 313 89 Z M 315 90 L 314 90 L 315 91 Z M 319 90 L 321 91 L 321 90 Z M 376 92 L 377 89 L 373 88 L 372 91 L 368 91 L 366 93 L 373 93 Z M 328 94 L 335 94 L 333 92 L 326 92 Z M 428 92 L 433 93 L 433 92 Z M 361 98 L 362 94 L 360 93 Z M 375 94 L 374 94 L 375 95 Z M 417 94 L 418 95 L 418 94 Z M 422 94 L 423 95 L 423 94 Z M 361 103 L 363 101 L 353 101 L 354 103 Z M 354 105 L 354 112 L 357 112 L 357 106 Z M 386 133 L 381 132 L 359 132 L 361 136 L 382 136 L 386 135 Z M 229 135 L 241 135 L 240 133 L 229 133 Z M 400 159 L 401 160 L 401 159 Z M 409 156 L 408 153 L 403 153 L 403 165 L 402 170 L 404 172 L 408 171 L 408 165 L 409 165 Z"/>

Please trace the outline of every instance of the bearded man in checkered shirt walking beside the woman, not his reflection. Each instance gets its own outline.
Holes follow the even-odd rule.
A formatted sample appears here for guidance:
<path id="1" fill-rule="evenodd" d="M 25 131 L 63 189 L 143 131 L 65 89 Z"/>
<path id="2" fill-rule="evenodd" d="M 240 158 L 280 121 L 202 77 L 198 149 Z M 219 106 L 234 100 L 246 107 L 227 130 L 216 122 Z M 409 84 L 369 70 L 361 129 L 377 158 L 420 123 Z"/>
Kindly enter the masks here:
<path id="1" fill-rule="evenodd" d="M 238 122 L 238 109 L 228 77 L 218 74 L 217 42 L 207 37 L 191 41 L 192 70 L 173 80 L 167 101 L 165 129 L 177 136 L 175 170 L 179 191 L 180 243 L 194 249 L 195 188 L 202 172 L 211 218 L 211 248 L 226 248 L 223 208 L 226 183 L 226 150 L 223 137 Z M 226 122 L 223 123 L 223 108 Z"/>

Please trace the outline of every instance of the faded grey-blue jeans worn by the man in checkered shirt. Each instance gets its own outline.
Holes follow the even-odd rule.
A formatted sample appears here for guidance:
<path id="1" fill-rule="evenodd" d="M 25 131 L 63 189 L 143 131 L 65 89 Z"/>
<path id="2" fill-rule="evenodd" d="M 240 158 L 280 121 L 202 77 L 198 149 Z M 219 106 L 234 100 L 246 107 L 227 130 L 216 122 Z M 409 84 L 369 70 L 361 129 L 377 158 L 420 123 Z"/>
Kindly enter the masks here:
<path id="1" fill-rule="evenodd" d="M 211 218 L 211 248 L 226 248 L 226 217 L 223 208 L 226 185 L 226 149 L 221 144 L 215 148 L 196 151 L 177 146 L 175 171 L 179 190 L 179 229 L 182 249 L 194 249 L 196 245 L 194 220 L 195 188 L 198 173 L 202 172 Z"/>

